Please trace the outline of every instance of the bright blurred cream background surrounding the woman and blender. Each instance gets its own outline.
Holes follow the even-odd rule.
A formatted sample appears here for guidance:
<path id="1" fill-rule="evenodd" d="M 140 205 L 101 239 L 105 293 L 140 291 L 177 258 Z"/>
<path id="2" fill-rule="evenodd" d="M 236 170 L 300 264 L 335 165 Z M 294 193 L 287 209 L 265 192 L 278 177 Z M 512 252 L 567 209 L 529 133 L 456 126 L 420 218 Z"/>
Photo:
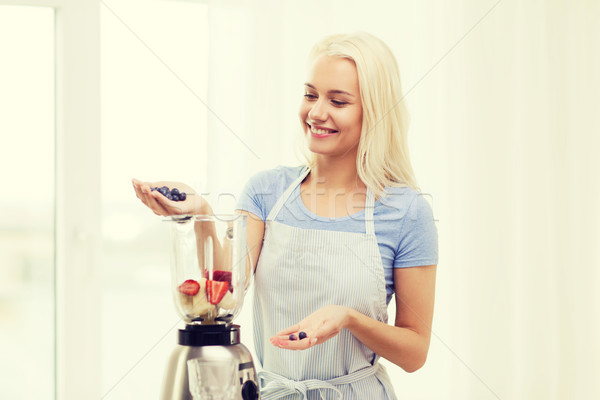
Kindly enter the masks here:
<path id="1" fill-rule="evenodd" d="M 0 0 L 2 398 L 157 397 L 182 323 L 131 178 L 231 210 L 300 162 L 306 55 L 356 30 L 398 59 L 440 239 L 398 397 L 600 396 L 597 1 Z"/>

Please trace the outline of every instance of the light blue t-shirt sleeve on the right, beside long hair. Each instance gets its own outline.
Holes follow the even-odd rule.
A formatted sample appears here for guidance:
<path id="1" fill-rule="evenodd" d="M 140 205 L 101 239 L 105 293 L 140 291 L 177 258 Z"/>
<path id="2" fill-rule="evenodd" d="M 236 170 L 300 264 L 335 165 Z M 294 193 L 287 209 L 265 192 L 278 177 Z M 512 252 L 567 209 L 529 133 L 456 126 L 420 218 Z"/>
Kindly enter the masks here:
<path id="1" fill-rule="evenodd" d="M 425 195 L 418 193 L 403 218 L 394 268 L 437 265 L 438 234 L 433 210 Z"/>

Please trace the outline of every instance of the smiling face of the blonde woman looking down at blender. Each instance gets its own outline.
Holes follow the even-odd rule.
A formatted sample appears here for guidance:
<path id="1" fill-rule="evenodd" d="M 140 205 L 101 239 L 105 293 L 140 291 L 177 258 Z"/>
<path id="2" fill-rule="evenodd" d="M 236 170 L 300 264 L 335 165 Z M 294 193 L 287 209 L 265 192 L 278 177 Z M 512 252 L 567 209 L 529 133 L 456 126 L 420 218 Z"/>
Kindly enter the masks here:
<path id="1" fill-rule="evenodd" d="M 362 130 L 362 103 L 353 61 L 321 55 L 304 84 L 300 121 L 311 152 L 354 156 Z"/>

